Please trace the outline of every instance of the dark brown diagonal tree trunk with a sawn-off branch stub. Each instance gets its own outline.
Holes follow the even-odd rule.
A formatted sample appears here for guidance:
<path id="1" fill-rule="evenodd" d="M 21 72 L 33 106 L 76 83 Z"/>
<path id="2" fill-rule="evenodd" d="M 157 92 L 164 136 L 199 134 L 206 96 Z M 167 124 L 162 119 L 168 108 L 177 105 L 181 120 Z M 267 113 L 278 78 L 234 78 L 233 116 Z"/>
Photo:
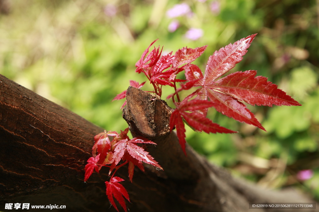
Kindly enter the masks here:
<path id="1" fill-rule="evenodd" d="M 130 211 L 254 211 L 249 202 L 314 202 L 291 190 L 265 191 L 234 179 L 188 145 L 185 156 L 169 132 L 170 114 L 158 97 L 129 87 L 123 117 L 133 135 L 157 143 L 147 151 L 164 168 L 135 169 L 133 183 L 124 167 L 116 172 L 125 179 Z M 0 210 L 5 203 L 30 203 L 65 205 L 61 211 L 115 211 L 105 194 L 106 168 L 83 182 L 93 137 L 102 131 L 0 75 Z"/>

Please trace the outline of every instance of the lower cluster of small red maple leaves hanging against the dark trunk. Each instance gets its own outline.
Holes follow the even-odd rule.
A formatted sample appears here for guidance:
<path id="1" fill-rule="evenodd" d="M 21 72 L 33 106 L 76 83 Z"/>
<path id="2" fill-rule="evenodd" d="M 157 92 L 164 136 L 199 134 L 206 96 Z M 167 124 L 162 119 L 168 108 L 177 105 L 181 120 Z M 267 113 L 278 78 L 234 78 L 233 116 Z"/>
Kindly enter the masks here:
<path id="1" fill-rule="evenodd" d="M 137 166 L 144 172 L 144 166 L 142 162 L 151 164 L 155 167 L 162 169 L 159 164 L 154 160 L 154 158 L 144 150 L 143 147 L 137 146 L 136 143 L 142 144 L 155 144 L 154 142 L 147 140 L 143 137 L 135 137 L 130 139 L 127 135 L 129 128 L 126 128 L 121 133 L 115 131 L 104 131 L 96 136 L 94 136 L 95 144 L 92 148 L 92 155 L 87 160 L 85 166 L 85 177 L 84 181 L 87 181 L 91 176 L 93 171 L 99 173 L 99 170 L 103 167 L 109 167 L 109 175 L 111 178 L 106 181 L 106 194 L 111 204 L 115 207 L 113 196 L 120 203 L 122 208 L 126 211 L 126 204 L 123 196 L 130 201 L 129 195 L 126 189 L 119 183 L 124 181 L 120 177 L 114 176 L 115 172 L 125 164 L 129 164 L 129 178 L 132 181 L 134 167 Z M 110 137 L 113 139 L 110 140 Z M 122 164 L 118 165 L 120 161 L 124 161 Z"/>

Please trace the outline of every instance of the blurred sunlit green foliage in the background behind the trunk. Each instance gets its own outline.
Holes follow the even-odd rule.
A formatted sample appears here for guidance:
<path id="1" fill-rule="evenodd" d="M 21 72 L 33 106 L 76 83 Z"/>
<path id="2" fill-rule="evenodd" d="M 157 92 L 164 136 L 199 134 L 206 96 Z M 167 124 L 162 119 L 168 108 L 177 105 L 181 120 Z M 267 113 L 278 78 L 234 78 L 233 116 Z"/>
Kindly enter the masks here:
<path id="1" fill-rule="evenodd" d="M 234 174 L 270 188 L 293 185 L 319 200 L 315 0 L 0 2 L 0 74 L 115 131 L 127 127 L 120 111 L 124 100 L 111 100 L 127 89 L 130 79 L 146 80 L 134 72 L 135 63 L 153 40 L 159 38 L 156 45 L 164 45 L 165 52 L 208 45 L 195 61 L 204 70 L 215 50 L 258 33 L 231 72 L 257 70 L 303 106 L 249 106 L 267 132 L 210 111 L 213 121 L 239 133 L 201 134 L 187 128 L 187 140 Z M 167 17 L 177 3 L 187 3 L 192 14 Z M 170 32 L 173 19 L 179 27 Z M 186 38 L 190 28 L 202 29 L 203 36 Z M 143 88 L 152 89 L 149 84 Z M 165 98 L 172 89 L 163 92 Z M 314 176 L 297 179 L 303 169 L 314 170 Z"/>

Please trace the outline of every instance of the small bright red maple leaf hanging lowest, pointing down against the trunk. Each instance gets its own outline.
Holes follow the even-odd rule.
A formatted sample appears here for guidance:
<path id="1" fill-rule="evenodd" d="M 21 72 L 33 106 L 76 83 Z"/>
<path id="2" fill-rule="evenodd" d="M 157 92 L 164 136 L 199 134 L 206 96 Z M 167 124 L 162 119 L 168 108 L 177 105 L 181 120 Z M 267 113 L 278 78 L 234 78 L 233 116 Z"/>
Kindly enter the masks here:
<path id="1" fill-rule="evenodd" d="M 129 202 L 130 202 L 130 197 L 126 189 L 123 187 L 123 185 L 119 183 L 121 181 L 124 181 L 124 180 L 120 177 L 112 177 L 110 181 L 105 181 L 106 195 L 108 195 L 108 200 L 111 202 L 111 204 L 117 211 L 119 210 L 116 207 L 113 196 L 115 197 L 117 202 L 120 203 L 124 211 L 127 211 L 125 200 L 123 197 L 125 197 L 125 199 L 127 199 Z"/>

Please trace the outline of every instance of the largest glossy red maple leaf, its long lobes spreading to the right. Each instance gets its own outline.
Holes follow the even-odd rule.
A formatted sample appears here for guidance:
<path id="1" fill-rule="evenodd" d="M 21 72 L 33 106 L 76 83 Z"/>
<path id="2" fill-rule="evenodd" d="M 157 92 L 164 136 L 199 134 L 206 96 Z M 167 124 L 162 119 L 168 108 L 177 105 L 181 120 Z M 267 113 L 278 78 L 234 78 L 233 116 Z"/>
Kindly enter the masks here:
<path id="1" fill-rule="evenodd" d="M 237 121 L 245 122 L 265 130 L 255 115 L 241 101 L 251 105 L 300 105 L 297 101 L 277 88 L 277 85 L 267 82 L 265 77 L 255 77 L 256 71 L 236 72 L 222 79 L 218 78 L 232 69 L 242 60 L 247 48 L 256 34 L 242 38 L 234 44 L 229 44 L 209 57 L 205 75 L 195 66 L 189 66 L 185 72 L 187 80 L 197 79 L 194 86 L 200 86 L 190 96 L 195 99 L 209 100 L 215 109 Z M 204 116 L 208 108 L 201 113 Z"/>

